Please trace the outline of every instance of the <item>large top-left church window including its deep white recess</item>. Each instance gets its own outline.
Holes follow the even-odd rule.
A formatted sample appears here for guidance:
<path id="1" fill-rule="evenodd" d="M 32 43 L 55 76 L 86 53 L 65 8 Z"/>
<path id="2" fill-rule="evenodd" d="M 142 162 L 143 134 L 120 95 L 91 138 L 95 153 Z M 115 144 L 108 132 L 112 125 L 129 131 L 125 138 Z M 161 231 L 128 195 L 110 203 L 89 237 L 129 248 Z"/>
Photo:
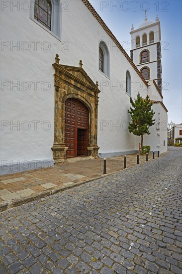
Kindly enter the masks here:
<path id="1" fill-rule="evenodd" d="M 60 0 L 32 0 L 30 18 L 41 27 L 61 37 L 61 2 Z"/>

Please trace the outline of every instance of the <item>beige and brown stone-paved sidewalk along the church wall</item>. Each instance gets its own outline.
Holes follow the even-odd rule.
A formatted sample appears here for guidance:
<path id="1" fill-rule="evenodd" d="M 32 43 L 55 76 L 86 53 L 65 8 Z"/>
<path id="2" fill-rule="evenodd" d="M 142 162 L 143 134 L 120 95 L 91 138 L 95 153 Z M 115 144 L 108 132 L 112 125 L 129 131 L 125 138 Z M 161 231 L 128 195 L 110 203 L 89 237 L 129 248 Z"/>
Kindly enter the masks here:
<path id="1" fill-rule="evenodd" d="M 155 155 L 157 157 L 157 155 Z M 149 160 L 152 154 L 149 154 Z M 107 159 L 107 173 L 123 169 L 124 156 Z M 127 155 L 127 167 L 135 166 L 137 154 Z M 140 163 L 146 156 L 140 155 Z M 103 175 L 103 159 L 80 157 L 57 166 L 0 176 L 0 204 L 7 206 L 19 205 L 35 198 L 45 197 L 68 186 L 98 178 Z"/>

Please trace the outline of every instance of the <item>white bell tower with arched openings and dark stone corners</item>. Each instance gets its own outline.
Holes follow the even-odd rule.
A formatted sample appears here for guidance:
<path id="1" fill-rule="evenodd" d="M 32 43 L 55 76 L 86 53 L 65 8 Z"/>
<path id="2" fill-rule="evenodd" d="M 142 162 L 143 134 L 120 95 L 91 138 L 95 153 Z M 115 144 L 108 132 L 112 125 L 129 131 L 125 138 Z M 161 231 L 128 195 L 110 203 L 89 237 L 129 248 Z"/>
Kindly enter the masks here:
<path id="1" fill-rule="evenodd" d="M 158 15 L 150 21 L 145 11 L 144 21 L 131 27 L 131 59 L 145 80 L 155 80 L 162 92 L 161 26 Z"/>

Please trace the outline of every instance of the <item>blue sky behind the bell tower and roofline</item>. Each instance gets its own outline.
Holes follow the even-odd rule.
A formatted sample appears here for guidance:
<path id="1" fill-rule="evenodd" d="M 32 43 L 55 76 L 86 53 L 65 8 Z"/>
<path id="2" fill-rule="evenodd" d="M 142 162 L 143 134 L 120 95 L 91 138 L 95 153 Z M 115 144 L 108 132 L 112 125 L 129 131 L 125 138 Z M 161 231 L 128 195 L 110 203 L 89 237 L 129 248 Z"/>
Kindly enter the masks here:
<path id="1" fill-rule="evenodd" d="M 131 25 L 161 21 L 163 103 L 168 122 L 182 123 L 182 0 L 90 0 L 130 56 Z"/>

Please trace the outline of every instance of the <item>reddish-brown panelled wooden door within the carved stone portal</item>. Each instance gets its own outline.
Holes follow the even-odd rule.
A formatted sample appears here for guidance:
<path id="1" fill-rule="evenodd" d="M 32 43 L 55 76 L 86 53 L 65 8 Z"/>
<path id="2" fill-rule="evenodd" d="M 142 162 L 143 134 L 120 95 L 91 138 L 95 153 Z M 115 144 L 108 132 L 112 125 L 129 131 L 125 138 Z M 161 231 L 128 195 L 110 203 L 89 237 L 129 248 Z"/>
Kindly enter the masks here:
<path id="1" fill-rule="evenodd" d="M 66 157 L 88 155 L 89 110 L 77 99 L 65 102 Z"/>

